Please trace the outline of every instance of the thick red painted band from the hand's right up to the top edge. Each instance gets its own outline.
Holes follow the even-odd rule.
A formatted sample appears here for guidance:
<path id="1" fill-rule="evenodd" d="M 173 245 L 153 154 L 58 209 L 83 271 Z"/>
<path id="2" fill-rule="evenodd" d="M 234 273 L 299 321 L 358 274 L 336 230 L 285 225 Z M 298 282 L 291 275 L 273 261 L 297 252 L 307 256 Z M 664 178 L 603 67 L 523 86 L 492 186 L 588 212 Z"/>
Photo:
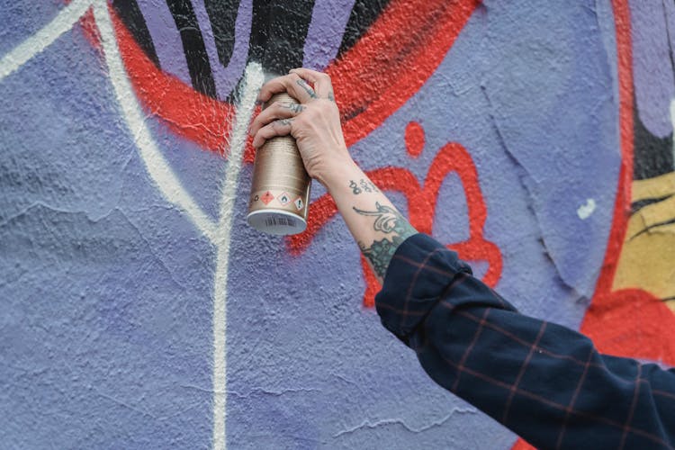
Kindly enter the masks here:
<path id="1" fill-rule="evenodd" d="M 365 138 L 427 82 L 480 0 L 392 0 L 326 72 L 347 146 Z"/>

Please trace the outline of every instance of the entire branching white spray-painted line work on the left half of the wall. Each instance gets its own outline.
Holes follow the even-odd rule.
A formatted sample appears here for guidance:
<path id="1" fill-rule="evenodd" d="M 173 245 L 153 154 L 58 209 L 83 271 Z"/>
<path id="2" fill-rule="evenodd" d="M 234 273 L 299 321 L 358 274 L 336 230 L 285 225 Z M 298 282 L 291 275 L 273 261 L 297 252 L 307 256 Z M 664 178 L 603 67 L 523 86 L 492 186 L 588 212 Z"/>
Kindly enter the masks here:
<path id="1" fill-rule="evenodd" d="M 139 155 L 146 166 L 148 175 L 165 196 L 174 203 L 202 234 L 216 248 L 216 270 L 213 279 L 213 434 L 212 445 L 220 450 L 226 447 L 226 408 L 227 408 L 227 284 L 229 272 L 229 246 L 232 229 L 232 216 L 236 197 L 238 175 L 244 157 L 247 142 L 247 128 L 251 121 L 257 91 L 263 84 L 262 67 L 257 63 L 247 66 L 242 85 L 241 101 L 238 104 L 232 125 L 229 163 L 225 173 L 220 200 L 220 218 L 218 223 L 211 220 L 193 200 L 180 183 L 166 158 L 157 148 L 142 109 L 133 92 L 129 76 L 121 59 L 120 49 L 112 27 L 112 18 L 104 0 L 76 0 L 66 7 L 40 31 L 7 53 L 0 59 L 0 81 L 9 76 L 38 55 L 60 35 L 70 30 L 77 21 L 92 7 L 94 21 L 101 34 L 105 64 L 121 108 L 121 116 L 126 121 L 130 133 L 139 148 Z"/>

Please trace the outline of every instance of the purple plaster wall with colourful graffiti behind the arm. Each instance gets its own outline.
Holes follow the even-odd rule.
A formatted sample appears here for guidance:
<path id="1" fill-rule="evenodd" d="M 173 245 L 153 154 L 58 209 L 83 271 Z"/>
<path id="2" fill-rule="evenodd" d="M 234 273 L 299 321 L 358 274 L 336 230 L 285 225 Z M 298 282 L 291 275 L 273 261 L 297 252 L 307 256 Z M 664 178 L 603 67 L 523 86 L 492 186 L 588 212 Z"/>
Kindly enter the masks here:
<path id="1" fill-rule="evenodd" d="M 314 184 L 245 222 L 266 76 L 530 315 L 675 365 L 675 7 L 60 0 L 0 8 L 0 446 L 510 448 L 379 324 Z"/>

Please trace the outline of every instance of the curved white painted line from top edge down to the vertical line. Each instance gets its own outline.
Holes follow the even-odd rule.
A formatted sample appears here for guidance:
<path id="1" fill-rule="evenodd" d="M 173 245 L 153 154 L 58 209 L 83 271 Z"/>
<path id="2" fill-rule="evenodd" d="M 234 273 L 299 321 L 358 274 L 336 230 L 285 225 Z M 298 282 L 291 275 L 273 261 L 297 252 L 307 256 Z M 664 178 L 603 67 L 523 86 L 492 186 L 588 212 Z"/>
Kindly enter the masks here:
<path id="1" fill-rule="evenodd" d="M 152 138 L 152 133 L 148 129 L 145 117 L 136 99 L 136 94 L 131 87 L 129 77 L 124 68 L 124 63 L 121 60 L 120 49 L 118 48 L 117 40 L 115 40 L 115 32 L 112 29 L 108 5 L 104 0 L 99 0 L 93 4 L 93 7 L 96 25 L 101 32 L 105 64 L 108 66 L 108 73 L 117 102 L 120 104 L 121 115 L 127 122 L 127 126 L 139 148 L 139 155 L 145 163 L 150 178 L 155 182 L 159 191 L 164 194 L 166 200 L 183 209 L 194 225 L 213 242 L 216 234 L 216 224 L 202 211 L 184 189 L 180 180 L 166 162 L 165 157 L 161 154 L 159 148 L 157 148 L 157 144 Z"/>

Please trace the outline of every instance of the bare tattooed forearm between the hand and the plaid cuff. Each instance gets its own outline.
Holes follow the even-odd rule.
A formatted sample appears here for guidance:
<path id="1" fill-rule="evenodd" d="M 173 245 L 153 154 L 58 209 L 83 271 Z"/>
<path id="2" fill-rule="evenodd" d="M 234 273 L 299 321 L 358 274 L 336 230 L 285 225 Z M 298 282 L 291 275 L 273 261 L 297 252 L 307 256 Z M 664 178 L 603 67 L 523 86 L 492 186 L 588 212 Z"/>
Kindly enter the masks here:
<path id="1" fill-rule="evenodd" d="M 382 283 L 396 248 L 417 230 L 351 160 L 331 170 L 322 183 Z"/>

